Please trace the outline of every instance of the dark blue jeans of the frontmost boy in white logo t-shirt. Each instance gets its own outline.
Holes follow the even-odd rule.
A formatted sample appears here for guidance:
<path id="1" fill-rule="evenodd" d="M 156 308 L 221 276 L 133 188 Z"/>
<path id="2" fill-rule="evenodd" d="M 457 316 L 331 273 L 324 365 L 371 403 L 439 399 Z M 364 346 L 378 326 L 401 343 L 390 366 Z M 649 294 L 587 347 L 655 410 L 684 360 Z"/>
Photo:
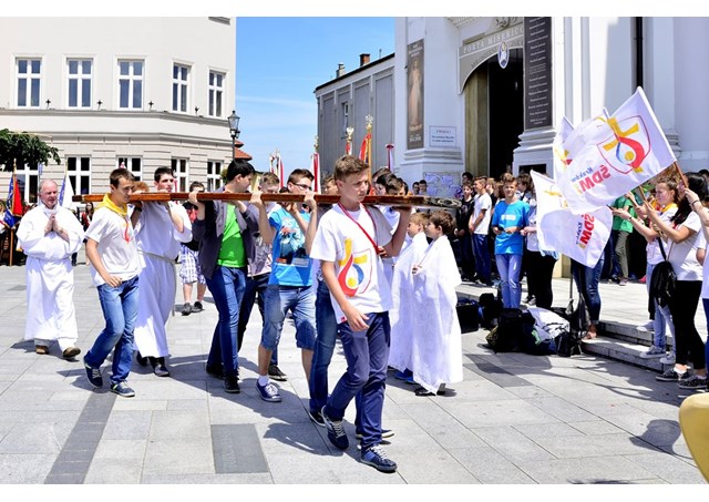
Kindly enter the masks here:
<path id="1" fill-rule="evenodd" d="M 387 361 L 391 328 L 389 313 L 367 313 L 366 331 L 352 331 L 349 322 L 338 329 L 347 359 L 347 372 L 335 386 L 325 407 L 332 420 L 342 420 L 350 401 L 358 397 L 358 429 L 362 432 L 362 451 L 381 442 L 381 413 L 387 387 Z"/>

